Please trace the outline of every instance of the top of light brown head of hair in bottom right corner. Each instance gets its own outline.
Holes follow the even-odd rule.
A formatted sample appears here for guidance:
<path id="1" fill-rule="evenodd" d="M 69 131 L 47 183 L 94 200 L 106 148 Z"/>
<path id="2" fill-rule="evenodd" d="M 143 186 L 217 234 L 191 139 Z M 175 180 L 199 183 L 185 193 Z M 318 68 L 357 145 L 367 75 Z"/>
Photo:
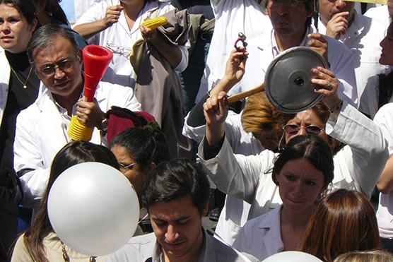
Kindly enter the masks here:
<path id="1" fill-rule="evenodd" d="M 393 255 L 380 249 L 351 251 L 337 256 L 334 262 L 393 262 Z"/>

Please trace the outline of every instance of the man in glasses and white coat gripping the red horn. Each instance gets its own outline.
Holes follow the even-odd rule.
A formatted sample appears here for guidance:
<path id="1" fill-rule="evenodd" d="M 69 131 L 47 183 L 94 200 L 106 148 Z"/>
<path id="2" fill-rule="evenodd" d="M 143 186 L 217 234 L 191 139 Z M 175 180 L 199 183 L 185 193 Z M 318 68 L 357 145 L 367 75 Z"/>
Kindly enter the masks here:
<path id="1" fill-rule="evenodd" d="M 82 52 L 71 31 L 59 25 L 37 30 L 28 46 L 28 56 L 42 81 L 33 105 L 20 112 L 16 122 L 14 167 L 23 186 L 23 205 L 37 207 L 57 151 L 71 139 L 67 134 L 71 117 L 94 127 L 91 142 L 104 143 L 104 112 L 112 105 L 140 110 L 130 88 L 100 82 L 94 102 L 83 95 Z"/>

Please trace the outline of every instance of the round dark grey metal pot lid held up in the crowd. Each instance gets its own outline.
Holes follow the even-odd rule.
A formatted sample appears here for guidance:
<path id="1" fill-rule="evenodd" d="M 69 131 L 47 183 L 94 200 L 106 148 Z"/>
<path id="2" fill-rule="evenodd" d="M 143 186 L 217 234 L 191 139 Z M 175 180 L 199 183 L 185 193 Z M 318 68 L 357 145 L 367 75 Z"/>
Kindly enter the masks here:
<path id="1" fill-rule="evenodd" d="M 265 91 L 271 104 L 284 113 L 306 110 L 321 100 L 311 83 L 311 69 L 328 68 L 325 59 L 309 47 L 292 47 L 271 61 L 265 75 Z"/>

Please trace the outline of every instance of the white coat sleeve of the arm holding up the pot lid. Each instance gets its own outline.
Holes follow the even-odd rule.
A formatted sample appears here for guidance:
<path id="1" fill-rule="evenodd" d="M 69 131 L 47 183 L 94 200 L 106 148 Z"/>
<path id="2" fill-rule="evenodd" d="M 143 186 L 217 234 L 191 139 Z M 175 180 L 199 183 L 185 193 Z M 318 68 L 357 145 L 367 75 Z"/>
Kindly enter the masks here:
<path id="1" fill-rule="evenodd" d="M 344 102 L 338 119 L 328 120 L 326 131 L 347 145 L 336 154 L 339 166 L 334 169 L 347 170 L 356 190 L 370 197 L 389 156 L 380 128 Z"/>

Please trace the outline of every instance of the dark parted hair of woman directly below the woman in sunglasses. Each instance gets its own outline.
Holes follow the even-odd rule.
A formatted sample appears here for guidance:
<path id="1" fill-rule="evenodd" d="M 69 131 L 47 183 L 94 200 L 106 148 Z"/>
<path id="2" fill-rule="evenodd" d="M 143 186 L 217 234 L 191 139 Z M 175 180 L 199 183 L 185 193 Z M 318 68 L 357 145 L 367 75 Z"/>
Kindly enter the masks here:
<path id="1" fill-rule="evenodd" d="M 276 175 L 281 172 L 283 166 L 291 160 L 305 158 L 324 175 L 324 184 L 329 184 L 334 177 L 334 163 L 332 150 L 329 145 L 319 136 L 296 136 L 286 145 L 274 162 L 271 177 L 274 184 L 278 185 Z"/>

